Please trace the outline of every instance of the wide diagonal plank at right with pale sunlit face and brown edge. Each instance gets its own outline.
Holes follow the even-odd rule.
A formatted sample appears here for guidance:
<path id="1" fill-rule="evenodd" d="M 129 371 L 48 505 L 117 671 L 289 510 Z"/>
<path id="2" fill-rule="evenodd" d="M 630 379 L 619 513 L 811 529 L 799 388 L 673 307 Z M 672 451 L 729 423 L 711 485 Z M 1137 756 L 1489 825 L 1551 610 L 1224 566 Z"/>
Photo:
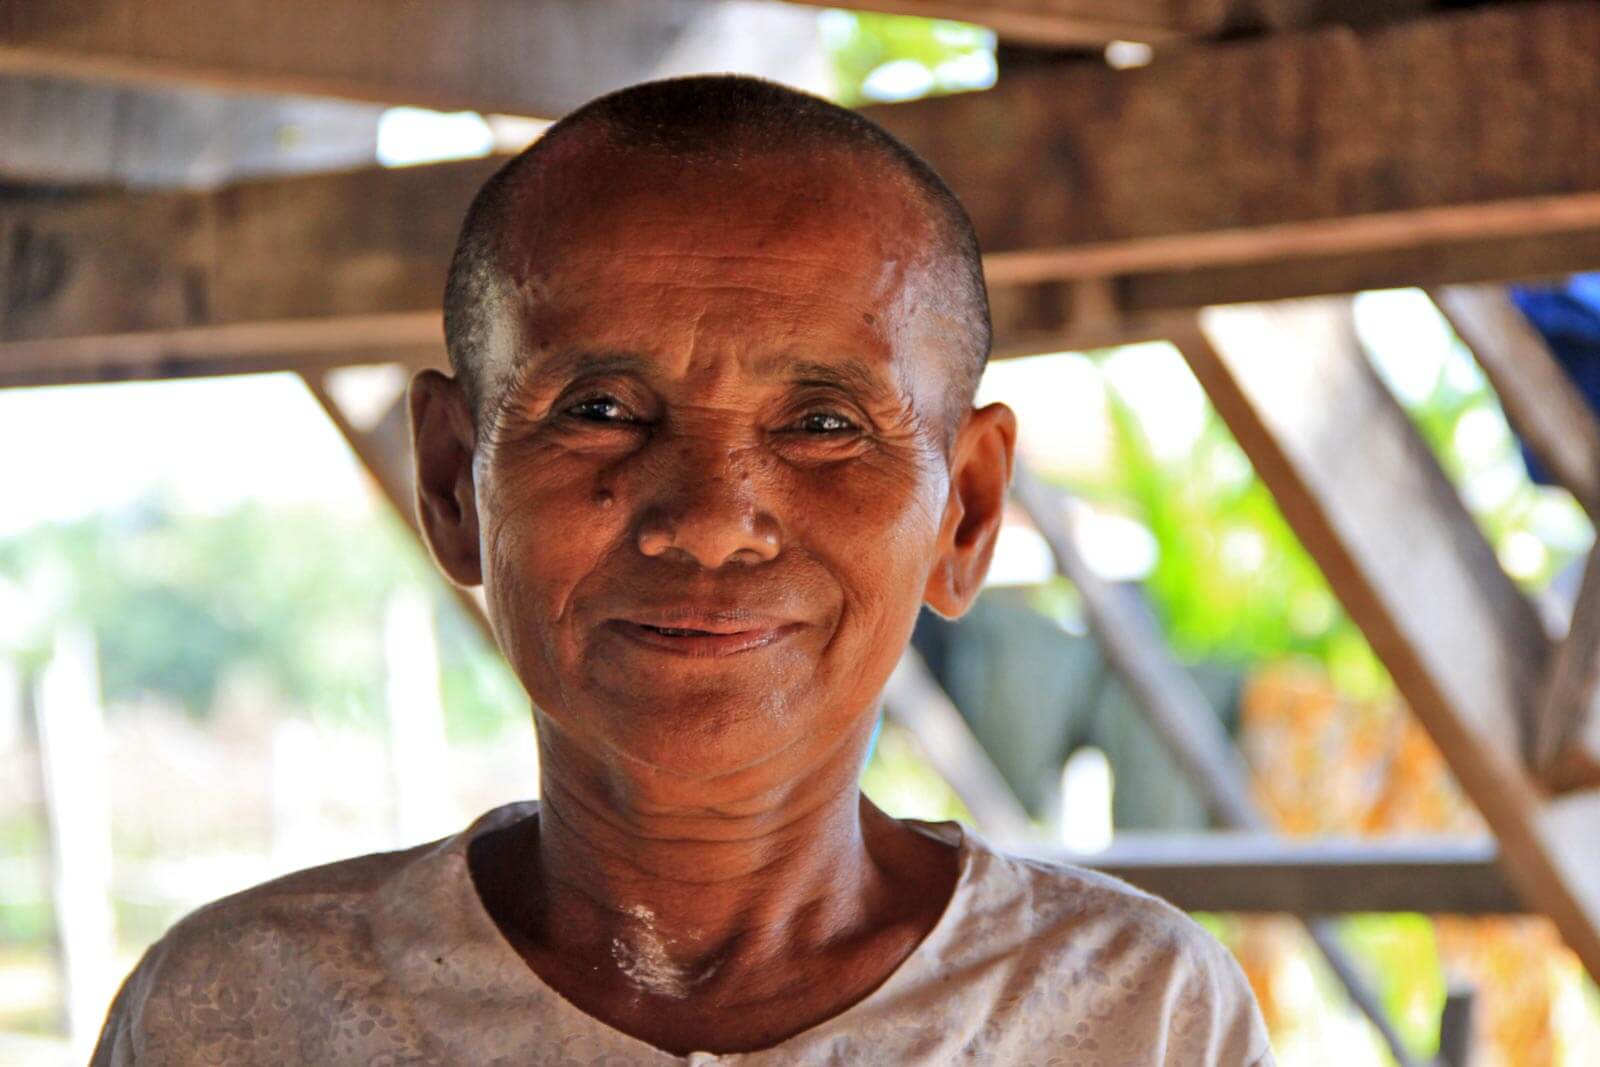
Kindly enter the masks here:
<path id="1" fill-rule="evenodd" d="M 1211 309 L 1174 341 L 1493 829 L 1507 877 L 1600 974 L 1595 824 L 1552 822 L 1525 766 L 1549 640 L 1360 352 L 1347 302 Z"/>

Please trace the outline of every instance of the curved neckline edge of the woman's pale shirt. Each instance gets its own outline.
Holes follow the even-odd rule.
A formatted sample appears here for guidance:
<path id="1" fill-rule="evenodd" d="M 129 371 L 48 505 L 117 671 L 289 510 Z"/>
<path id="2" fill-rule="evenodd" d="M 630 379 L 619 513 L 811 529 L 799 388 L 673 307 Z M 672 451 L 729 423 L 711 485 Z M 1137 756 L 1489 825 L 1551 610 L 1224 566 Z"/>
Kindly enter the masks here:
<path id="1" fill-rule="evenodd" d="M 622 1030 L 618 1030 L 608 1022 L 590 1016 L 587 1011 L 566 1000 L 566 997 L 546 982 L 538 971 L 528 966 L 528 961 L 522 958 L 522 953 L 518 953 L 509 941 L 506 941 L 499 925 L 496 925 L 494 918 L 488 913 L 488 909 L 483 907 L 483 899 L 478 896 L 477 886 L 472 883 L 472 870 L 467 865 L 467 846 L 483 833 L 531 819 L 538 813 L 538 800 L 517 800 L 501 805 L 499 808 L 491 808 L 474 819 L 467 829 L 459 832 L 450 841 L 446 849 L 442 849 L 443 854 L 440 857 L 448 861 L 448 878 L 456 883 L 454 896 L 464 902 L 467 923 L 474 931 L 475 939 L 491 947 L 491 952 L 496 957 L 494 966 L 498 969 L 504 969 L 506 974 L 517 974 L 518 977 L 514 981 L 526 985 L 533 997 L 549 1003 L 554 1011 L 558 1011 L 573 1019 L 574 1024 L 602 1035 L 606 1041 L 626 1051 L 630 1059 L 640 1061 L 640 1057 L 654 1057 L 661 1062 L 670 1064 L 738 1064 L 749 1062 L 762 1056 L 781 1054 L 787 1049 L 797 1049 L 813 1040 L 824 1029 L 834 1029 L 842 1022 L 848 1024 L 851 1016 L 870 1013 L 877 1001 L 893 997 L 896 989 L 912 981 L 915 973 L 922 969 L 923 961 L 930 955 L 936 953 L 939 945 L 949 941 L 952 928 L 960 921 L 960 915 L 966 910 L 962 902 L 971 891 L 974 869 L 973 859 L 978 848 L 976 835 L 954 819 L 899 819 L 899 822 L 918 833 L 923 833 L 925 837 L 931 837 L 946 845 L 954 845 L 957 849 L 957 870 L 955 886 L 950 889 L 950 897 L 946 901 L 938 921 L 934 921 L 933 928 L 923 934 L 922 941 L 917 942 L 906 958 L 901 960 L 893 971 L 890 971 L 888 977 L 837 1016 L 822 1019 L 800 1033 L 784 1038 L 778 1045 L 768 1045 L 766 1048 L 749 1049 L 746 1053 L 691 1051 L 686 1056 L 678 1056 L 677 1053 L 669 1053 L 667 1049 L 658 1048 L 630 1033 L 624 1033 Z"/>

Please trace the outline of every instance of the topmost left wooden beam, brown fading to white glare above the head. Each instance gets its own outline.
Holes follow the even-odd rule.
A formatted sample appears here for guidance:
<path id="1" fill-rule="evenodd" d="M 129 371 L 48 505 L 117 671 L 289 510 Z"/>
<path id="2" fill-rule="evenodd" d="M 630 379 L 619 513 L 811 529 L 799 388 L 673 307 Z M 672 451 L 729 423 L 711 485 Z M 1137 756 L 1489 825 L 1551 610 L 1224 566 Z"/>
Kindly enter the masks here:
<path id="1" fill-rule="evenodd" d="M 826 75 L 810 11 L 706 0 L 6 0 L 0 69 L 541 118 L 672 74 Z"/>

